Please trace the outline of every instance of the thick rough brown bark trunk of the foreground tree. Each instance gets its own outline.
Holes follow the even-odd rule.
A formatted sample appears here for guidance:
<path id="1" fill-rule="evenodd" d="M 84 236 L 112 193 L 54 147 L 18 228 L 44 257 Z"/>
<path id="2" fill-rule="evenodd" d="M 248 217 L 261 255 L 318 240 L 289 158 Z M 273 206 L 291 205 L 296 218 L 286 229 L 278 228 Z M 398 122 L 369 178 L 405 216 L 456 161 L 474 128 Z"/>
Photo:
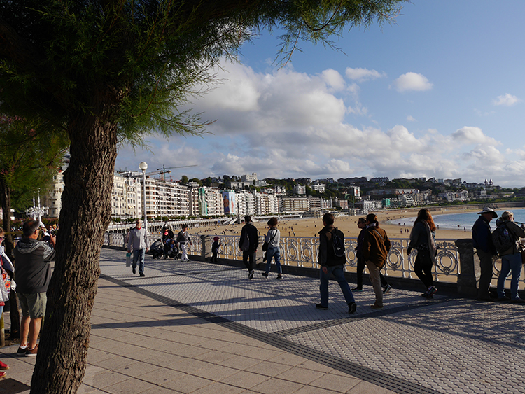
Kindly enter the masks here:
<path id="1" fill-rule="evenodd" d="M 93 103 L 91 113 L 78 113 L 69 122 L 71 160 L 64 172 L 55 271 L 31 394 L 76 393 L 85 373 L 117 156 L 115 100 L 94 94 Z"/>

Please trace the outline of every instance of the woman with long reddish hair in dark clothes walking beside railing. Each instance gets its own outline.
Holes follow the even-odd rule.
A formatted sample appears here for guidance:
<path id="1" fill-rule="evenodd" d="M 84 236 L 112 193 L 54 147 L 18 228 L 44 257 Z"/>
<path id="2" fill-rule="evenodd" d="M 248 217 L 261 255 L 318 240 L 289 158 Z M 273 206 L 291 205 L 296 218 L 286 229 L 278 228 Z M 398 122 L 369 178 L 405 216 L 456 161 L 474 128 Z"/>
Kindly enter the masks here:
<path id="1" fill-rule="evenodd" d="M 421 294 L 421 297 L 433 298 L 437 292 L 432 279 L 432 267 L 437 262 L 435 259 L 437 248 L 435 246 L 435 224 L 428 209 L 420 209 L 417 213 L 414 227 L 410 232 L 407 255 L 410 255 L 412 249 L 417 251 L 414 272 L 426 287 L 426 291 Z"/>

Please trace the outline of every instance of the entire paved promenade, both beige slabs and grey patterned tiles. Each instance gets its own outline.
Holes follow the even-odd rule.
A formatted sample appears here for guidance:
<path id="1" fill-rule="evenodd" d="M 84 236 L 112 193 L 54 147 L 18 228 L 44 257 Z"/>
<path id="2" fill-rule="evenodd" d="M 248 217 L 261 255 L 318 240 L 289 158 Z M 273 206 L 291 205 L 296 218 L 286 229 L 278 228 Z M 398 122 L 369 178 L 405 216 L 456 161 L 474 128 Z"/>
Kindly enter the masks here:
<path id="1" fill-rule="evenodd" d="M 347 314 L 337 283 L 317 310 L 318 280 L 103 249 L 87 370 L 79 393 L 525 393 L 525 314 L 371 286 Z M 439 286 L 437 286 L 439 288 Z M 437 293 L 439 294 L 439 293 Z M 29 393 L 34 358 L 0 349 L 0 394 Z"/>

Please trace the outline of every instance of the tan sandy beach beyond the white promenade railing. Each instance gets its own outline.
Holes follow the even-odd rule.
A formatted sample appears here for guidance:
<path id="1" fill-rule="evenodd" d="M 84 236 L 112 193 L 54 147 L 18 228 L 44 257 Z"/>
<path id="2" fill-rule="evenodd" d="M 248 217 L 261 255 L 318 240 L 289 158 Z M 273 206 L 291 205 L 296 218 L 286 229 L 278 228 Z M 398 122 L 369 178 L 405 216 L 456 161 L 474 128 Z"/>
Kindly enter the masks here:
<path id="1" fill-rule="evenodd" d="M 393 225 L 388 224 L 390 220 L 400 218 L 414 218 L 417 216 L 419 209 L 407 210 L 393 210 L 374 212 L 379 219 L 379 225 L 382 227 L 388 237 L 391 239 L 408 239 L 412 225 Z M 468 213 L 477 212 L 478 209 L 434 209 L 431 212 L 434 214 L 444 215 L 447 213 Z M 347 238 L 356 238 L 359 234 L 357 227 L 357 220 L 360 216 L 339 216 L 335 218 L 335 227 L 344 232 Z M 472 223 L 473 224 L 473 223 Z M 266 220 L 254 222 L 255 227 L 258 228 L 260 234 L 267 233 Z M 198 227 L 190 230 L 190 234 L 209 234 L 209 235 L 240 235 L 243 225 L 215 225 L 209 227 Z M 292 218 L 281 220 L 277 228 L 281 230 L 281 237 L 316 237 L 316 234 L 323 228 L 323 220 L 321 218 Z M 443 239 L 467 239 L 472 237 L 470 229 L 465 232 L 461 230 L 436 230 L 435 238 L 437 240 Z"/>

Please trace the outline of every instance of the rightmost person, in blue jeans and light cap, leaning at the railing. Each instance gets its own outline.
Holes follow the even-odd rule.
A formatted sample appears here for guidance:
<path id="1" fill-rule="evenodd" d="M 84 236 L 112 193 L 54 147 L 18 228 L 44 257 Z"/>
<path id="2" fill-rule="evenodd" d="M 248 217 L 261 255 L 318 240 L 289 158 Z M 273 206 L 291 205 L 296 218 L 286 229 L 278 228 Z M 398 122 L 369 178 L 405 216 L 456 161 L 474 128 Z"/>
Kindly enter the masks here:
<path id="1" fill-rule="evenodd" d="M 506 251 L 500 251 L 501 271 L 498 277 L 498 301 L 525 303 L 525 300 L 519 298 L 518 282 L 521 276 L 521 253 L 519 253 L 519 239 L 525 238 L 525 230 L 514 223 L 514 213 L 505 211 L 501 214 L 500 226 L 505 226 L 506 230 L 512 236 L 512 246 Z M 494 230 L 496 232 L 496 230 Z M 505 280 L 509 272 L 512 272 L 510 279 L 510 299 L 505 295 Z"/>

